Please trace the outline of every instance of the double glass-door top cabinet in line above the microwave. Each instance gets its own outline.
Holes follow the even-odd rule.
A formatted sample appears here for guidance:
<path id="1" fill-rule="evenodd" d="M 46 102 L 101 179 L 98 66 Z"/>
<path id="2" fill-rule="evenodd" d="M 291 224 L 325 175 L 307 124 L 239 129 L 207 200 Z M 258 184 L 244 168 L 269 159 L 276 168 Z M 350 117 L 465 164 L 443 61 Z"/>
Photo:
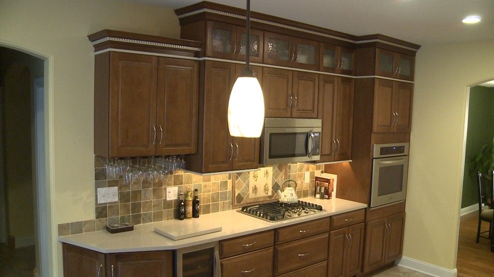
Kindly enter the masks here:
<path id="1" fill-rule="evenodd" d="M 264 31 L 263 63 L 318 70 L 319 42 Z"/>

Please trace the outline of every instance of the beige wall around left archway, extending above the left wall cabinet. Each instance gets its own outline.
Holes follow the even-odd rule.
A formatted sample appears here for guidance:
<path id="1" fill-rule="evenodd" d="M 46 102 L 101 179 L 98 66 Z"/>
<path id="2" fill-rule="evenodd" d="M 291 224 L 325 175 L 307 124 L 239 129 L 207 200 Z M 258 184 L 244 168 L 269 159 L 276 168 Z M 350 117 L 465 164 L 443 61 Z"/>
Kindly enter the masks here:
<path id="1" fill-rule="evenodd" d="M 116 29 L 178 38 L 178 18 L 173 10 L 115 0 L 0 1 L 0 18 L 0 44 L 3 41 L 52 57 L 50 186 L 56 236 L 58 223 L 94 219 L 94 59 L 86 36 Z M 59 244 L 55 255 L 60 270 Z"/>

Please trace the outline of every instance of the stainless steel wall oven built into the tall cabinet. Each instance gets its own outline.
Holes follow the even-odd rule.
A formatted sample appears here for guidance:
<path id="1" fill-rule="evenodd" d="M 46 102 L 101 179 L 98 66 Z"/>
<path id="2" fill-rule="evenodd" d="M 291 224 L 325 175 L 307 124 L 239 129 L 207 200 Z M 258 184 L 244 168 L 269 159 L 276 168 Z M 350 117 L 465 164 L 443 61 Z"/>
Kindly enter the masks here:
<path id="1" fill-rule="evenodd" d="M 370 207 L 407 197 L 409 143 L 374 144 Z"/>

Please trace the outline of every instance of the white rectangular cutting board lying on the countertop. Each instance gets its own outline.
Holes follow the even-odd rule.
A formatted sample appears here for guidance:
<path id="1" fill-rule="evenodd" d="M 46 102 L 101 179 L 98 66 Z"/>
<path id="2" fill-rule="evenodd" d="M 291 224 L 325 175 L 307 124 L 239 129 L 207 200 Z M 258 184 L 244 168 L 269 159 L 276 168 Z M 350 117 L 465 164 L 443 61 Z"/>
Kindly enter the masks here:
<path id="1" fill-rule="evenodd" d="M 220 232 L 221 226 L 215 223 L 199 222 L 198 220 L 173 220 L 163 226 L 155 227 L 154 231 L 174 241 Z"/>

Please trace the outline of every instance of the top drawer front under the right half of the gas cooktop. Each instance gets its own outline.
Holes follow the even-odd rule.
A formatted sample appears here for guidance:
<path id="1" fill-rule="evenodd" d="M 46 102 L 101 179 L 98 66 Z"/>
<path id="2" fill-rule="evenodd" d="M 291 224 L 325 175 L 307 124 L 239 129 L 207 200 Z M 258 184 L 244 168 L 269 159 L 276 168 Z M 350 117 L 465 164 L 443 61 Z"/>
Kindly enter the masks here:
<path id="1" fill-rule="evenodd" d="M 307 238 L 324 232 L 329 232 L 329 220 L 327 218 L 278 228 L 275 231 L 275 240 L 276 244 L 281 244 Z"/>

